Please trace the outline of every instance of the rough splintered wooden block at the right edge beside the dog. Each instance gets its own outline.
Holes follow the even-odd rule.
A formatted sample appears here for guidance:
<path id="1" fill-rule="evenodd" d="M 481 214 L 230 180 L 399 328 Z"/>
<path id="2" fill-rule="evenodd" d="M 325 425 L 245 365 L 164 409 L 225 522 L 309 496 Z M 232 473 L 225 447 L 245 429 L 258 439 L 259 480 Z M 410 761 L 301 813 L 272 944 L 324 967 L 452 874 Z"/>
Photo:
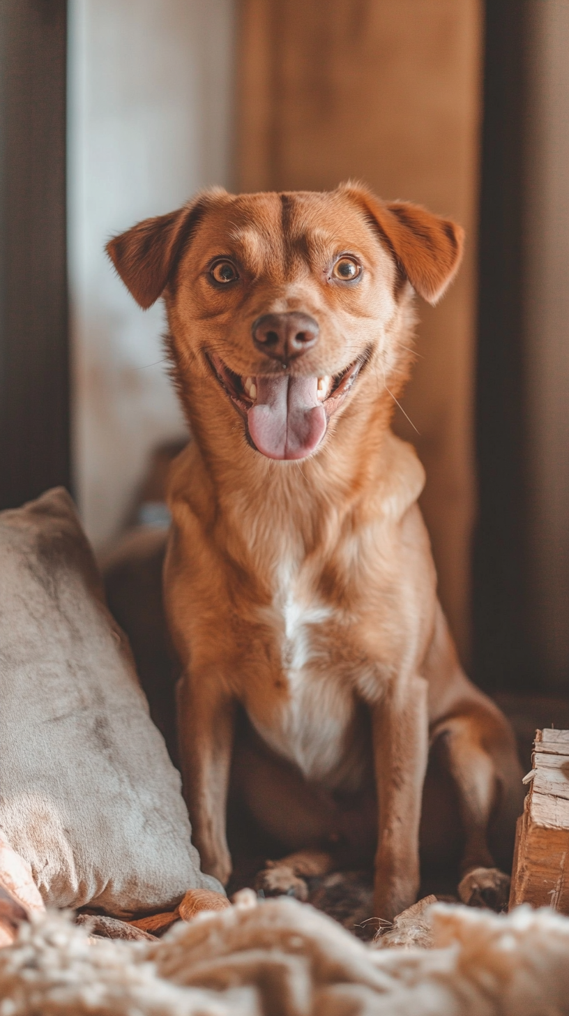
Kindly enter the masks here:
<path id="1" fill-rule="evenodd" d="M 569 731 L 536 731 L 531 765 L 509 906 L 530 903 L 569 914 Z"/>

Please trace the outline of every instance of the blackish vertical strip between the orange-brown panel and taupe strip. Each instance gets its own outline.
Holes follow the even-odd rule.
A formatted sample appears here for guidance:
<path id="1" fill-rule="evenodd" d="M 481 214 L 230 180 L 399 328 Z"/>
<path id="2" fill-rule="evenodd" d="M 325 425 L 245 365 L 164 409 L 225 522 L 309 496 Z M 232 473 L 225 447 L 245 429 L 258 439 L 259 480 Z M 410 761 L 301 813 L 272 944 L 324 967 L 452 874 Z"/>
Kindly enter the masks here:
<path id="1" fill-rule="evenodd" d="M 473 677 L 529 689 L 522 327 L 525 5 L 488 0 L 484 74 L 473 546 Z"/>

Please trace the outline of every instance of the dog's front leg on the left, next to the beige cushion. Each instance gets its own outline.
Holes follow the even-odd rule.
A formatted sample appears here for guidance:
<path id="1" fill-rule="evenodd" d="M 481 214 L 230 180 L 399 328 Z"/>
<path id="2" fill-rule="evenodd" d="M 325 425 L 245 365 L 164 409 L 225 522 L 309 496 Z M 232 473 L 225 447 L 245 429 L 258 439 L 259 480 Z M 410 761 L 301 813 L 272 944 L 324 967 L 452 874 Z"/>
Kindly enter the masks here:
<path id="1" fill-rule="evenodd" d="M 226 885 L 232 872 L 226 811 L 235 703 L 211 675 L 185 675 L 177 697 L 182 783 L 194 845 L 202 871 Z"/>

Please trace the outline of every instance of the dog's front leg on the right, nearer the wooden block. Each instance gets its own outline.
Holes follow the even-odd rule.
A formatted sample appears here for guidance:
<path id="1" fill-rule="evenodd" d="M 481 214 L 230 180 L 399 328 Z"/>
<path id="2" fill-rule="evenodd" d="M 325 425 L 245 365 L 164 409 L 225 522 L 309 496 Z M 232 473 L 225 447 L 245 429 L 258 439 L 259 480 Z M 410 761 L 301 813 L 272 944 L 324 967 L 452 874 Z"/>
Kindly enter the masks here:
<path id="1" fill-rule="evenodd" d="M 427 682 L 396 680 L 372 710 L 379 835 L 374 915 L 391 920 L 417 899 L 419 823 L 429 754 Z"/>

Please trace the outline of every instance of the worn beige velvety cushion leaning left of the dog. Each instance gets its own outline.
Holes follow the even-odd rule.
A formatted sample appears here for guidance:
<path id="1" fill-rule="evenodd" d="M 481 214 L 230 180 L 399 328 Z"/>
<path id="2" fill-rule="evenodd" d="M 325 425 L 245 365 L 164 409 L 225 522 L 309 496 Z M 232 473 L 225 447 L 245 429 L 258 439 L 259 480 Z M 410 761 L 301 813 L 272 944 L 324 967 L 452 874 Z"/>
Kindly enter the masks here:
<path id="1" fill-rule="evenodd" d="M 0 513 L 0 829 L 55 906 L 120 915 L 223 891 L 63 489 Z"/>

